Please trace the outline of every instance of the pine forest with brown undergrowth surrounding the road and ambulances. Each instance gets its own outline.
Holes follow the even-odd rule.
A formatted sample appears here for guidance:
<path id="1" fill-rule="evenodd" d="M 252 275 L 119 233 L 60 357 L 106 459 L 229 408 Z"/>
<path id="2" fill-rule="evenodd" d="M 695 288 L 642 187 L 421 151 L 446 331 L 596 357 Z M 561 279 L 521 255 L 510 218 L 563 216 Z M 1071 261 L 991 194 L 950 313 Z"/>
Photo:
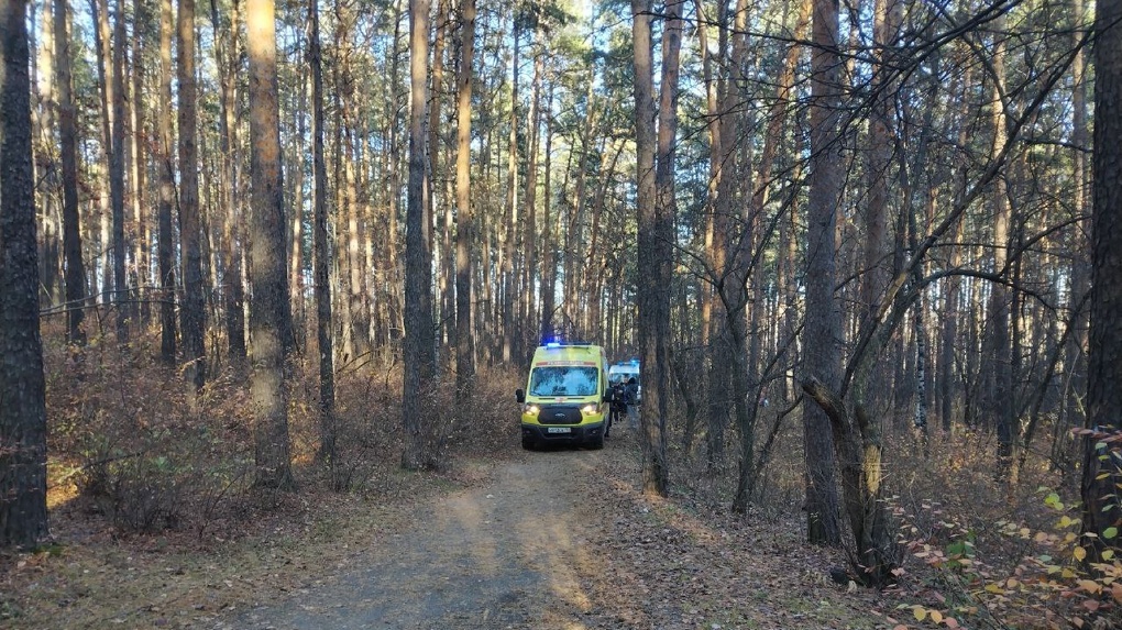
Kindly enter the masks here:
<path id="1" fill-rule="evenodd" d="M 562 337 L 644 493 L 1119 621 L 1122 2 L 2 6 L 0 547 L 440 474 Z"/>

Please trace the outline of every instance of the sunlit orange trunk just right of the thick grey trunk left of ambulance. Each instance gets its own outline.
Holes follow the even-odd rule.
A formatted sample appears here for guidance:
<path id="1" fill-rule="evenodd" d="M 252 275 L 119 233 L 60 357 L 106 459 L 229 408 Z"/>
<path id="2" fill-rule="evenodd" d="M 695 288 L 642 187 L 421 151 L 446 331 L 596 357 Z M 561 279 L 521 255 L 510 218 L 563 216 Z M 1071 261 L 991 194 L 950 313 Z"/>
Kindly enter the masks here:
<path id="1" fill-rule="evenodd" d="M 471 327 L 472 248 L 476 239 L 471 207 L 471 85 L 476 39 L 476 0 L 460 8 L 460 67 L 456 96 L 456 407 L 466 419 L 476 380 L 476 335 Z"/>

